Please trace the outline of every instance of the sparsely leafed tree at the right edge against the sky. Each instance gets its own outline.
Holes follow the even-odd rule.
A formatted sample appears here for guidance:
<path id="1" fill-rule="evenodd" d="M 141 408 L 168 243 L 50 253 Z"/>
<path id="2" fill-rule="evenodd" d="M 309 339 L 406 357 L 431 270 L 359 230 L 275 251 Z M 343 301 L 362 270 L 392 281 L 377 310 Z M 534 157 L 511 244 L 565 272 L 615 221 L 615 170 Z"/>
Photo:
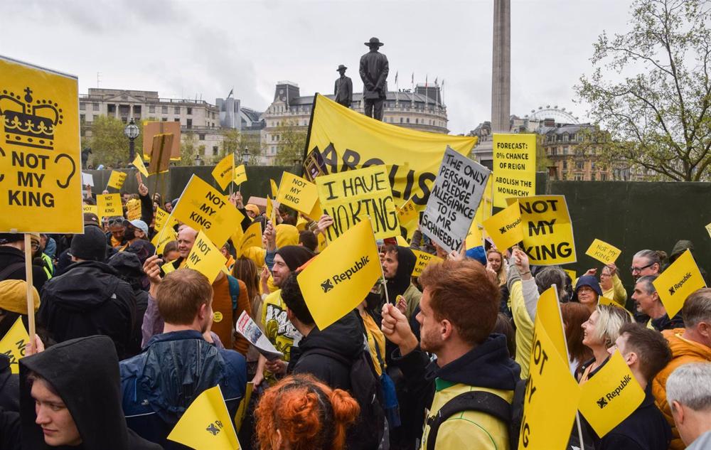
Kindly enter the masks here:
<path id="1" fill-rule="evenodd" d="M 711 9 L 704 0 L 635 0 L 631 30 L 594 44 L 577 95 L 609 130 L 614 166 L 674 181 L 710 178 Z M 634 73 L 620 81 L 621 73 Z M 614 80 L 614 81 L 613 81 Z"/>

